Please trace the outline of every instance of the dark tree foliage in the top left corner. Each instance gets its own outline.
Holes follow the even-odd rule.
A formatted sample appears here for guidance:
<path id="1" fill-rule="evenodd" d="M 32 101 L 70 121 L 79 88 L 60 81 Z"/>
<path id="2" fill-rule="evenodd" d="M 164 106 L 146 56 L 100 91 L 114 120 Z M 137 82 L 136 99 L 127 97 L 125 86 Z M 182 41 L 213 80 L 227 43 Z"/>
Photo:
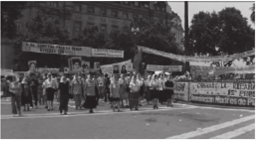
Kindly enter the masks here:
<path id="1" fill-rule="evenodd" d="M 21 11 L 25 8 L 27 2 L 1 2 L 1 35 L 9 39 L 16 36 L 15 21 L 22 17 Z"/>

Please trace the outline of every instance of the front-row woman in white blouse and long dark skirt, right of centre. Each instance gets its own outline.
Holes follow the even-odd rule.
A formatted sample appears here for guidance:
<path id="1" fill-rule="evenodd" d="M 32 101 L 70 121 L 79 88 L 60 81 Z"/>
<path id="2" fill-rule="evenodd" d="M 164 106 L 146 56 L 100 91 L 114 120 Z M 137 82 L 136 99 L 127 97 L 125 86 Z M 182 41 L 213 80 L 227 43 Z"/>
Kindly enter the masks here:
<path id="1" fill-rule="evenodd" d="M 129 85 L 129 88 L 130 88 L 130 110 L 132 110 L 132 108 L 135 108 L 135 110 L 139 110 L 138 107 L 139 107 L 139 98 L 140 98 L 140 86 L 139 86 L 139 83 L 136 81 L 137 77 L 136 75 L 133 76 L 131 78 L 131 81 L 130 81 L 130 85 Z"/>

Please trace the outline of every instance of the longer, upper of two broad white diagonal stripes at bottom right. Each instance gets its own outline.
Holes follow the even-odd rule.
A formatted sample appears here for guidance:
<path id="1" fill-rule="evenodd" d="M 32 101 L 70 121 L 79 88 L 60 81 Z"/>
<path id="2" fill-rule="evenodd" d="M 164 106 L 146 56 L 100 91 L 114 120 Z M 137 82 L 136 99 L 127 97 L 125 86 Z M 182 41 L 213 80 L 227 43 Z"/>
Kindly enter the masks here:
<path id="1" fill-rule="evenodd" d="M 224 128 L 227 128 L 229 126 L 233 126 L 235 124 L 239 124 L 239 123 L 242 123 L 242 122 L 245 122 L 245 121 L 248 121 L 248 120 L 252 120 L 252 119 L 255 120 L 255 115 L 248 116 L 248 117 L 245 117 L 245 118 L 236 119 L 236 120 L 233 120 L 233 121 L 224 122 L 224 123 L 221 123 L 221 124 L 218 124 L 218 125 L 213 125 L 213 126 L 210 126 L 208 128 L 204 128 L 204 129 L 184 133 L 184 134 L 181 134 L 181 135 L 168 137 L 167 139 L 188 139 L 188 138 L 200 136 L 200 135 L 203 135 L 203 134 L 207 134 L 207 133 L 210 133 L 210 132 L 214 132 L 214 131 L 217 131 L 217 130 L 220 130 L 220 129 L 224 129 Z"/>

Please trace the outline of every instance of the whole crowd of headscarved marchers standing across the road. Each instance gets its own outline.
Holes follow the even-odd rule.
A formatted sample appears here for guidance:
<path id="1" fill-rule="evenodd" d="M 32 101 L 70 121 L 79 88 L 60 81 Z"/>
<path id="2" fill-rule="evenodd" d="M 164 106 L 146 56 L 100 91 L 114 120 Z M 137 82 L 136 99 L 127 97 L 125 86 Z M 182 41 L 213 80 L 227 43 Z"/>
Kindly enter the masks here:
<path id="1" fill-rule="evenodd" d="M 23 111 L 29 111 L 37 109 L 38 104 L 51 111 L 54 100 L 59 104 L 60 114 L 66 115 L 70 100 L 75 101 L 76 110 L 86 108 L 89 113 L 93 113 L 99 102 L 110 104 L 113 111 L 122 111 L 121 108 L 139 110 L 143 101 L 153 104 L 154 109 L 158 109 L 158 103 L 172 106 L 172 80 L 171 75 L 164 73 L 147 78 L 140 74 L 96 76 L 90 73 L 69 78 L 65 75 L 53 77 L 51 73 L 39 77 L 30 74 L 15 76 L 12 81 L 2 79 L 1 91 L 10 94 L 14 116 L 21 115 L 22 107 Z"/>

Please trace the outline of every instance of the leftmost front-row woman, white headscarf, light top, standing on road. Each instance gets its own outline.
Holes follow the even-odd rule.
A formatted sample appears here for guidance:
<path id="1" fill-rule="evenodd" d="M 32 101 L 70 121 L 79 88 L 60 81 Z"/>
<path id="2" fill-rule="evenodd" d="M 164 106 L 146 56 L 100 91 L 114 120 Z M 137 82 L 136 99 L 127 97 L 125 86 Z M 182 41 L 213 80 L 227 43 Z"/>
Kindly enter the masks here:
<path id="1" fill-rule="evenodd" d="M 14 81 L 9 85 L 9 92 L 11 94 L 11 107 L 12 107 L 12 114 L 14 117 L 18 114 L 21 115 L 20 106 L 21 106 L 21 84 L 19 82 L 18 76 L 14 77 Z M 18 111 L 18 112 L 17 112 Z"/>

